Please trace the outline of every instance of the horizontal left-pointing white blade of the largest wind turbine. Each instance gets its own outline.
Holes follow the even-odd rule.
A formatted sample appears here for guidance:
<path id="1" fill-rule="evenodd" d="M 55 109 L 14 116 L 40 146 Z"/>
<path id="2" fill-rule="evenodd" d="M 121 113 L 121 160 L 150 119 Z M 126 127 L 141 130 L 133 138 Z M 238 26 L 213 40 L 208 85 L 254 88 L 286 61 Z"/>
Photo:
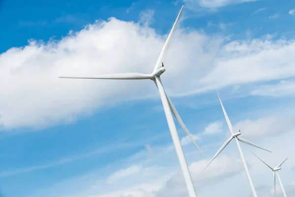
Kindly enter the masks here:
<path id="1" fill-rule="evenodd" d="M 142 73 L 114 73 L 104 74 L 99 76 L 62 76 L 59 78 L 72 78 L 72 79 L 151 79 L 150 74 Z"/>

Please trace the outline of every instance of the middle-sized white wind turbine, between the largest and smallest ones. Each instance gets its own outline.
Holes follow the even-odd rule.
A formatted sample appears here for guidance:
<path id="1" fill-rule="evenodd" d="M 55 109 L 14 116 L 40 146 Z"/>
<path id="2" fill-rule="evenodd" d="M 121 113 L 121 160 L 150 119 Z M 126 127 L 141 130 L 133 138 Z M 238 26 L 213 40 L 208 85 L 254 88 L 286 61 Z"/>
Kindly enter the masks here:
<path id="1" fill-rule="evenodd" d="M 217 91 L 217 90 L 216 90 Z M 221 104 L 221 107 L 222 107 L 222 110 L 223 110 L 223 113 L 224 113 L 224 116 L 225 116 L 225 119 L 226 119 L 226 122 L 227 122 L 227 125 L 228 125 L 228 127 L 229 127 L 229 129 L 230 129 L 230 131 L 231 131 L 231 137 L 228 139 L 228 140 L 226 140 L 225 141 L 225 143 L 219 148 L 219 150 L 217 151 L 217 153 L 213 156 L 213 158 L 211 159 L 211 161 L 209 162 L 209 164 L 211 164 L 211 162 L 221 153 L 221 151 L 232 141 L 232 139 L 235 139 L 236 140 L 236 145 L 237 145 L 237 149 L 238 149 L 238 151 L 239 151 L 239 153 L 240 153 L 240 156 L 241 156 L 241 159 L 242 159 L 242 162 L 243 162 L 243 165 L 244 165 L 244 168 L 245 168 L 245 171 L 246 171 L 246 174 L 247 174 L 247 177 L 248 177 L 248 181 L 249 181 L 249 183 L 250 183 L 250 187 L 251 187 L 251 190 L 252 190 L 252 193 L 253 193 L 253 196 L 254 197 L 257 197 L 257 193 L 256 193 L 256 190 L 255 190 L 255 188 L 254 188 L 254 185 L 253 185 L 253 181 L 252 181 L 252 178 L 251 178 L 251 176 L 250 176 L 250 172 L 249 172 L 249 169 L 248 169 L 248 166 L 247 166 L 247 164 L 246 164 L 246 160 L 245 160 L 245 158 L 244 158 L 244 155 L 243 155 L 243 152 L 242 152 L 242 149 L 241 149 L 241 146 L 240 146 L 240 141 L 241 142 L 243 142 L 243 143 L 245 143 L 245 144 L 248 144 L 248 145 L 251 145 L 251 146 L 255 146 L 255 147 L 257 147 L 257 148 L 260 148 L 260 149 L 263 149 L 263 150 L 266 150 L 266 149 L 264 149 L 264 148 L 262 148 L 262 147 L 260 147 L 260 146 L 258 146 L 258 145 L 256 145 L 256 144 L 253 144 L 252 142 L 249 142 L 249 141 L 247 141 L 247 140 L 245 140 L 245 139 L 243 139 L 243 138 L 241 138 L 239 135 L 241 134 L 241 131 L 239 131 L 239 132 L 236 132 L 236 133 L 234 133 L 233 132 L 233 126 L 232 126 L 232 124 L 231 124 L 231 121 L 230 121 L 230 119 L 229 119 L 229 117 L 228 117 L 228 115 L 227 115 L 227 113 L 226 113 L 226 111 L 225 111 L 225 109 L 224 109 L 224 107 L 223 107 L 223 104 L 222 104 L 222 102 L 221 102 L 221 99 L 220 99 L 220 97 L 219 97 L 219 94 L 218 94 L 218 91 L 217 91 L 217 95 L 218 95 L 218 99 L 219 99 L 219 101 L 220 101 L 220 104 Z M 266 151 L 268 151 L 268 150 L 266 150 Z M 268 151 L 268 152 L 271 152 L 271 151 Z M 205 169 L 209 166 L 209 164 L 205 167 Z M 205 171 L 205 169 L 204 169 L 204 171 Z"/>

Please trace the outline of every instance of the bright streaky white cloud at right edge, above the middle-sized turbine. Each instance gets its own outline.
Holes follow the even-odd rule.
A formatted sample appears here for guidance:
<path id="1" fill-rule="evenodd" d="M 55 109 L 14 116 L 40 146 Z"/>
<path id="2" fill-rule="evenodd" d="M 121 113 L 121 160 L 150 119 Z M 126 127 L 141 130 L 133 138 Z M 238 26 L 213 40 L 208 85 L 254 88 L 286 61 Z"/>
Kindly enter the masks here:
<path id="1" fill-rule="evenodd" d="M 225 45 L 222 50 L 223 54 L 216 60 L 214 68 L 200 79 L 201 84 L 210 83 L 209 87 L 212 89 L 295 75 L 295 70 L 291 66 L 295 63 L 295 57 L 291 55 L 295 51 L 294 41 L 284 39 L 233 41 Z M 285 58 L 279 60 L 278 57 Z M 203 92 L 209 87 L 204 86 L 190 93 Z"/>

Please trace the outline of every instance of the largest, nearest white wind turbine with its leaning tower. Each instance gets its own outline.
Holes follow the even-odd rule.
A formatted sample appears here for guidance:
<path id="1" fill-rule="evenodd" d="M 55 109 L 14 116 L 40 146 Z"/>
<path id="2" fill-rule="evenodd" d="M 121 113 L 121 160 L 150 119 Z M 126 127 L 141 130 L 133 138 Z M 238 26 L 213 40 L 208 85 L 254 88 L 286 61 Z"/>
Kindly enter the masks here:
<path id="1" fill-rule="evenodd" d="M 185 156 L 181 147 L 181 143 L 179 140 L 179 136 L 177 133 L 177 129 L 175 126 L 175 122 L 173 119 L 173 116 L 171 114 L 174 114 L 174 116 L 176 117 L 177 121 L 179 122 L 179 124 L 181 125 L 181 127 L 183 128 L 183 130 L 187 133 L 187 135 L 190 137 L 190 139 L 193 141 L 193 143 L 197 146 L 197 148 L 200 150 L 200 152 L 203 154 L 203 152 L 201 151 L 201 149 L 199 148 L 199 146 L 196 144 L 196 142 L 194 141 L 194 139 L 192 138 L 192 136 L 190 135 L 190 133 L 188 132 L 187 128 L 185 127 L 184 123 L 182 122 L 179 114 L 177 113 L 176 108 L 174 107 L 173 103 L 171 102 L 171 100 L 169 99 L 169 97 L 166 95 L 165 90 L 163 88 L 162 82 L 161 82 L 161 74 L 163 74 L 166 70 L 166 68 L 164 67 L 164 60 L 165 60 L 165 56 L 167 55 L 168 52 L 168 48 L 171 42 L 171 37 L 173 35 L 173 33 L 175 32 L 176 29 L 176 25 L 179 19 L 179 16 L 181 14 L 181 11 L 183 9 L 183 6 L 181 7 L 179 14 L 177 16 L 177 19 L 171 29 L 171 32 L 169 33 L 167 40 L 163 46 L 163 49 L 160 53 L 160 56 L 158 57 L 158 60 L 156 62 L 156 65 L 154 67 L 154 70 L 151 74 L 142 74 L 142 73 L 116 73 L 116 74 L 105 74 L 105 75 L 101 75 L 101 76 L 63 76 L 63 77 L 59 77 L 59 78 L 80 78 L 80 79 L 150 79 L 152 81 L 154 81 L 154 83 L 157 86 L 157 89 L 159 91 L 161 100 L 162 100 L 162 104 L 163 104 L 163 108 L 164 108 L 164 112 L 166 115 L 166 119 L 168 122 L 168 127 L 169 130 L 171 132 L 171 136 L 172 136 L 172 140 L 176 149 L 176 153 L 177 153 L 177 157 L 182 169 L 182 173 L 184 176 L 184 180 L 187 186 L 187 190 L 188 190 L 188 194 L 190 197 L 197 197 L 196 192 L 195 192 L 195 188 L 193 185 L 193 181 L 188 169 L 188 165 L 186 163 L 185 160 Z M 205 157 L 205 155 L 203 154 L 203 156 Z"/>

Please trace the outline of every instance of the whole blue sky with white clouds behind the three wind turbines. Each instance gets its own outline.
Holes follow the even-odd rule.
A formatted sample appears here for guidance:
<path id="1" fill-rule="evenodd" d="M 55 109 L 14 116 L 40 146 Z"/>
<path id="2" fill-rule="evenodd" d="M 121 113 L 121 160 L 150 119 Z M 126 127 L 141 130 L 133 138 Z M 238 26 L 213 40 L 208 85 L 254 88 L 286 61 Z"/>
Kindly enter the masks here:
<path id="1" fill-rule="evenodd" d="M 234 129 L 276 150 L 243 146 L 261 196 L 272 192 L 271 174 L 249 150 L 273 164 L 289 157 L 281 178 L 295 194 L 295 3 L 243 1 L 0 1 L 4 197 L 186 195 L 152 82 L 57 78 L 150 72 L 182 4 L 162 80 L 207 156 L 177 125 L 198 194 L 250 194 L 233 144 L 201 173 L 229 134 L 215 89 Z"/>

